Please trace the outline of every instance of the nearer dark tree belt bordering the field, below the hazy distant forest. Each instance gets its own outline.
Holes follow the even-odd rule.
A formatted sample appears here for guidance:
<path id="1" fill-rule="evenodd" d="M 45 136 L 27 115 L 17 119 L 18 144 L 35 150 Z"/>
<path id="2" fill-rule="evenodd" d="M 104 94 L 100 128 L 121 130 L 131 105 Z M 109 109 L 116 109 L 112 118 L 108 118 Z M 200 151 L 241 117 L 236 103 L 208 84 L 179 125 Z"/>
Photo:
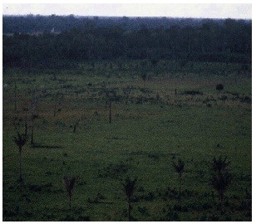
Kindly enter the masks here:
<path id="1" fill-rule="evenodd" d="M 3 21 L 4 22 L 4 21 Z M 49 61 L 171 60 L 251 63 L 250 22 L 208 20 L 200 26 L 96 27 L 61 33 L 14 33 L 2 38 L 3 66 L 47 66 Z"/>

